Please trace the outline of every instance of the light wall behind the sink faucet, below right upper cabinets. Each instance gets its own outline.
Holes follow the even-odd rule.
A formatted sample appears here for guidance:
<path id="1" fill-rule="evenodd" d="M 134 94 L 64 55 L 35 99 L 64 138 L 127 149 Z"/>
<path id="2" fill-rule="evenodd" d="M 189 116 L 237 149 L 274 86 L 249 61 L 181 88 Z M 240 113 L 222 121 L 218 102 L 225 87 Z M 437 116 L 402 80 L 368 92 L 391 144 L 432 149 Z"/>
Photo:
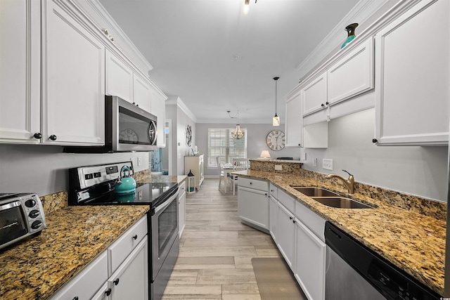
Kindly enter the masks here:
<path id="1" fill-rule="evenodd" d="M 375 146 L 375 110 L 364 110 L 328 123 L 328 148 L 307 149 L 303 169 L 337 173 L 355 181 L 446 202 L 448 147 Z M 312 159 L 317 158 L 317 167 Z M 333 171 L 322 159 L 333 159 Z"/>

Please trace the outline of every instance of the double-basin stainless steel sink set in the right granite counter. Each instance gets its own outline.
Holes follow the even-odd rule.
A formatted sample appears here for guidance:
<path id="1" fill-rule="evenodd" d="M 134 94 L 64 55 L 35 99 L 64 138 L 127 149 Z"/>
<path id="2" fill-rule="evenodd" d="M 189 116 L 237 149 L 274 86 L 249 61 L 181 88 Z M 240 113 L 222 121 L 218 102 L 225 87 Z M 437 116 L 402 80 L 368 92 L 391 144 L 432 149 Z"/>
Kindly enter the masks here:
<path id="1" fill-rule="evenodd" d="M 327 190 L 326 188 L 309 187 L 309 186 L 292 186 L 300 193 L 311 197 L 312 199 L 324 204 L 328 207 L 339 209 L 371 209 L 373 207 L 356 200 L 342 197 L 338 193 Z"/>

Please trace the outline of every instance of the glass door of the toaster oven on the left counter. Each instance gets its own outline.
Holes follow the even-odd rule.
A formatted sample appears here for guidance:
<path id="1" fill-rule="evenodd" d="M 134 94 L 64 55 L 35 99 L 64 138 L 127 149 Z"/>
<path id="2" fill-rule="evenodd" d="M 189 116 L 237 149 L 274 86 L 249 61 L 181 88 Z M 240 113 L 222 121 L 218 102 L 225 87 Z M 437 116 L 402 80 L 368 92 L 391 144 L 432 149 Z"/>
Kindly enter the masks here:
<path id="1" fill-rule="evenodd" d="M 20 201 L 0 204 L 0 249 L 27 235 L 25 220 Z"/>

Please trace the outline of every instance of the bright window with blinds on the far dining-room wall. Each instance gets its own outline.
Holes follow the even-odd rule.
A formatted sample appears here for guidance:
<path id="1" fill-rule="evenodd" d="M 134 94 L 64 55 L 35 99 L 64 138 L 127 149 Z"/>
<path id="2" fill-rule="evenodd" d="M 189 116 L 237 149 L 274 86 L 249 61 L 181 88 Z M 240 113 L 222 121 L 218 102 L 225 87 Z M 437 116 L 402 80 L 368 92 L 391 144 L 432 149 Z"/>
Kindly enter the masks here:
<path id="1" fill-rule="evenodd" d="M 210 128 L 208 129 L 208 167 L 217 167 L 217 159 L 220 163 L 230 162 L 231 158 L 247 158 L 247 129 L 244 137 L 235 140 L 231 137 L 234 128 Z"/>

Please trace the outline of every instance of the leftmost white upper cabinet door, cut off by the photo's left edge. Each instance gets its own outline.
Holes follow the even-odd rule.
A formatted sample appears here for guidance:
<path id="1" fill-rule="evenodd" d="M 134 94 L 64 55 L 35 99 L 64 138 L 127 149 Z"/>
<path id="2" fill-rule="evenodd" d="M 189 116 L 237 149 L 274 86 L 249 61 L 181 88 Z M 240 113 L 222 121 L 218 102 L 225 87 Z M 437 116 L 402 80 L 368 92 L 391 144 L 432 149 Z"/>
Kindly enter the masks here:
<path id="1" fill-rule="evenodd" d="M 40 22 L 39 1 L 1 0 L 1 142 L 40 142 Z"/>

